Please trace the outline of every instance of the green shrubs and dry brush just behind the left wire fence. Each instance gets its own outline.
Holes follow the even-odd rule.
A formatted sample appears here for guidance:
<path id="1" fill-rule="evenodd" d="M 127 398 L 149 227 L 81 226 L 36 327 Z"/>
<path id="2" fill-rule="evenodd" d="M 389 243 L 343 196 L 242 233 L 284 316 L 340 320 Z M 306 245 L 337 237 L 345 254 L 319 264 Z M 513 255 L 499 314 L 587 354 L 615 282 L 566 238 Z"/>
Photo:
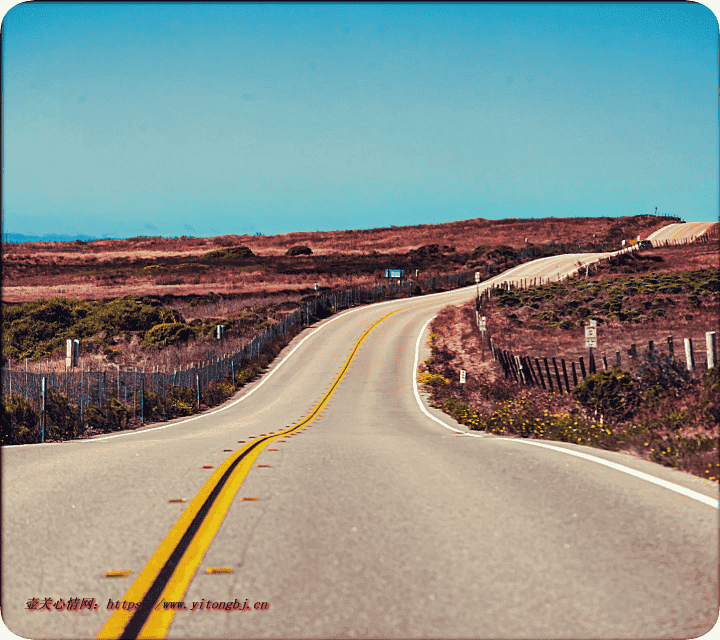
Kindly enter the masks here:
<path id="1" fill-rule="evenodd" d="M 46 370 L 62 371 L 66 340 L 78 339 L 86 365 L 187 365 L 217 355 L 218 324 L 225 327 L 222 349 L 228 352 L 297 309 L 300 301 L 247 307 L 256 301 L 233 304 L 211 294 L 166 302 L 130 295 L 109 302 L 58 297 L 4 304 L 3 358 L 13 366 L 25 358 L 46 360 Z"/>

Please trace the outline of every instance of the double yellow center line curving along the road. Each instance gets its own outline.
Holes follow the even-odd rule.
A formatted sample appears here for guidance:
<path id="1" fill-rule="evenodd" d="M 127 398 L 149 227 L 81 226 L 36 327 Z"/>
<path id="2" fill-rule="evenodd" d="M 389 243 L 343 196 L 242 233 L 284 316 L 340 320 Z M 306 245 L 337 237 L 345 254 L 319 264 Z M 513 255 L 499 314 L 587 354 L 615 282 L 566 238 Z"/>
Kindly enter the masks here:
<path id="1" fill-rule="evenodd" d="M 397 311 L 399 309 L 383 316 L 363 333 L 330 388 L 301 422 L 277 434 L 249 442 L 217 468 L 125 594 L 125 602 L 138 603 L 138 606 L 132 611 L 116 609 L 98 634 L 98 638 L 165 636 L 175 611 L 164 609 L 158 606 L 158 603 L 179 602 L 183 599 L 253 462 L 273 440 L 302 429 L 319 415 L 340 384 L 365 338 L 378 324 Z"/>

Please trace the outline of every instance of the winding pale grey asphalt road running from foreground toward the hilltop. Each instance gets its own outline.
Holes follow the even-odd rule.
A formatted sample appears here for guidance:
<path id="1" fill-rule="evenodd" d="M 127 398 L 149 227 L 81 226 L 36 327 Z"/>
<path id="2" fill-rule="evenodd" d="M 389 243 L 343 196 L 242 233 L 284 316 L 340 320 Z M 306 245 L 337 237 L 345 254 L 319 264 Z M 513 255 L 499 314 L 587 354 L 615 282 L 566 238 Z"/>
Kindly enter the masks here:
<path id="1" fill-rule="evenodd" d="M 558 256 L 498 280 L 555 279 L 589 258 Z M 210 508 L 190 543 L 195 560 L 182 556 L 162 591 L 196 610 L 173 616 L 160 607 L 140 637 L 708 631 L 718 615 L 716 484 L 623 454 L 468 434 L 418 402 L 428 320 L 474 296 L 470 287 L 332 317 L 297 336 L 263 379 L 200 417 L 3 447 L 5 623 L 26 638 L 127 634 L 132 613 L 112 618 L 122 622 L 113 635 L 109 601 L 149 592 L 146 576 L 162 573 L 169 532 L 200 504 L 193 499 L 218 467 L 236 459 L 237 495 L 237 487 L 219 494 L 224 518 Z M 302 429 L 267 440 L 294 423 Z M 53 608 L 31 611 L 32 598 L 38 608 L 52 598 Z M 71 598 L 94 602 L 54 608 Z M 249 610 L 205 606 L 236 600 Z"/>

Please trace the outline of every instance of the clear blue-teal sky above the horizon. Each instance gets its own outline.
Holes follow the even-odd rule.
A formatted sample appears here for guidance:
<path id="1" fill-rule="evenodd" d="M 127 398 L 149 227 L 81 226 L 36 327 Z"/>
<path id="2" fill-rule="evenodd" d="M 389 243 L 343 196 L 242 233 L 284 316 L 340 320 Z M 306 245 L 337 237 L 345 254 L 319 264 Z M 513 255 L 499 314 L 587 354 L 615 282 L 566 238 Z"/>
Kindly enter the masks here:
<path id="1" fill-rule="evenodd" d="M 700 4 L 26 3 L 3 231 L 718 217 Z"/>

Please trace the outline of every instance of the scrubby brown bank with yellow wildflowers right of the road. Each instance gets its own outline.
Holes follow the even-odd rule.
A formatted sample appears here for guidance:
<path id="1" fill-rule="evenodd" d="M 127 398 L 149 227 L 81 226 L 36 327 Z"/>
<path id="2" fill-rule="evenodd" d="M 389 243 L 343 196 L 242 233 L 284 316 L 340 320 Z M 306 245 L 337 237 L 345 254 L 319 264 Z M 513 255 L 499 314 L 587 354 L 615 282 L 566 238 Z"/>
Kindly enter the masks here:
<path id="1" fill-rule="evenodd" d="M 602 267 L 600 274 L 613 265 Z M 612 367 L 613 357 L 610 368 L 588 375 L 571 394 L 520 386 L 506 380 L 492 360 L 470 303 L 435 318 L 431 357 L 418 380 L 436 407 L 471 429 L 623 451 L 718 482 L 720 372 L 704 365 L 687 371 L 679 339 L 716 330 L 719 303 L 717 268 L 638 277 L 595 274 L 497 290 L 480 313 L 501 348 L 539 357 L 587 355 L 582 325 L 594 318 L 598 351 L 601 342 L 613 354 L 622 347 L 622 366 Z M 667 349 L 647 349 L 649 340 L 659 343 L 668 332 L 680 342 L 675 357 Z M 632 342 L 634 358 L 625 349 Z M 460 369 L 467 371 L 465 385 L 459 383 Z"/>

